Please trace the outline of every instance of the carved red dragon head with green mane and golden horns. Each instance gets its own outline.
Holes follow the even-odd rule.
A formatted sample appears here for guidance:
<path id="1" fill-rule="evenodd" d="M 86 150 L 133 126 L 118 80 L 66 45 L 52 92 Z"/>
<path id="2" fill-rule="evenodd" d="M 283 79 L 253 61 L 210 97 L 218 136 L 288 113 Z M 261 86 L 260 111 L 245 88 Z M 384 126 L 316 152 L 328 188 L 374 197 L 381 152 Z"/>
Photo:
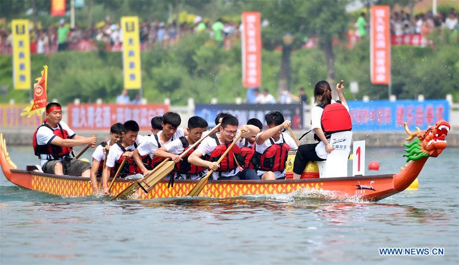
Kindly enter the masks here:
<path id="1" fill-rule="evenodd" d="M 418 160 L 422 157 L 437 157 L 446 148 L 446 135 L 451 126 L 444 119 L 440 119 L 434 126 L 429 126 L 427 130 L 421 131 L 416 127 L 416 132 L 411 132 L 405 123 L 405 131 L 409 135 L 407 141 L 417 137 L 414 141 L 405 144 L 408 154 L 404 156 L 409 160 Z"/>

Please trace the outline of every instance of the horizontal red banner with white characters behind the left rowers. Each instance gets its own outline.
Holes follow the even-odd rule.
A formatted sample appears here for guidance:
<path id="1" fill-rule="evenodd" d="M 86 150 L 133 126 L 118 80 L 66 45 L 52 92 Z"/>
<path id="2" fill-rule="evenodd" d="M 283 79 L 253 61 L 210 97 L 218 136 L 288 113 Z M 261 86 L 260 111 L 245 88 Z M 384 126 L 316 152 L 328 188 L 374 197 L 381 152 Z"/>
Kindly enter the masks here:
<path id="1" fill-rule="evenodd" d="M 68 126 L 73 130 L 110 130 L 115 123 L 133 119 L 140 130 L 151 129 L 151 118 L 169 110 L 165 104 L 117 105 L 117 104 L 68 104 Z"/>

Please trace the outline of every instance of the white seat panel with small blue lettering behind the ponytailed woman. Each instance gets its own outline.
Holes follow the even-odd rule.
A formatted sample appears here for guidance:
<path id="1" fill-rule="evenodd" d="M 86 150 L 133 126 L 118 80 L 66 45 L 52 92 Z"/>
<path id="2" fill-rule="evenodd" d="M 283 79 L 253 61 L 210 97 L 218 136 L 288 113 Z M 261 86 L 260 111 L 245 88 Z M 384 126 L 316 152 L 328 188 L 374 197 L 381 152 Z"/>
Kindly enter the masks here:
<path id="1" fill-rule="evenodd" d="M 346 177 L 352 132 L 337 132 L 330 136 L 330 144 L 335 148 L 325 161 L 318 161 L 320 178 Z"/>

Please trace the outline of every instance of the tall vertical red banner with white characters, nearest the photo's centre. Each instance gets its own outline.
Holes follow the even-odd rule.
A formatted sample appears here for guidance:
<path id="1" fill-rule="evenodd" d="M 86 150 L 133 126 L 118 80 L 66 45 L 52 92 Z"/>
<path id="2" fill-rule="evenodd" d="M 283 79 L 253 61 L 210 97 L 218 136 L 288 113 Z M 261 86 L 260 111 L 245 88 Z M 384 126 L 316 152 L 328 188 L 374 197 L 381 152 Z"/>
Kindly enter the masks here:
<path id="1" fill-rule="evenodd" d="M 261 32 L 260 13 L 242 13 L 243 86 L 261 86 Z"/>

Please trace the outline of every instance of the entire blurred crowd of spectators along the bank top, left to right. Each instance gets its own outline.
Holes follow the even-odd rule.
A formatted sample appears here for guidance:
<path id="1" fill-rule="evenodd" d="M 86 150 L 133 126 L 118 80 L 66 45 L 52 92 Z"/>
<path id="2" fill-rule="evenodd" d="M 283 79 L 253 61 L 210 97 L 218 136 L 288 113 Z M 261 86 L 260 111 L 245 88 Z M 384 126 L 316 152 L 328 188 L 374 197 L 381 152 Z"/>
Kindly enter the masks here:
<path id="1" fill-rule="evenodd" d="M 367 16 L 362 13 L 355 23 L 355 36 L 358 38 L 368 34 L 369 23 Z M 416 15 L 414 18 L 403 10 L 393 12 L 391 16 L 391 34 L 401 36 L 404 34 L 426 35 L 434 28 L 445 28 L 451 32 L 458 31 L 459 15 L 455 9 L 448 14 L 439 12 L 433 15 L 432 12 Z M 262 26 L 269 25 L 263 21 Z M 175 21 L 165 23 L 164 21 L 143 21 L 139 24 L 140 48 L 148 47 L 167 48 L 174 46 L 178 39 L 184 34 L 207 33 L 210 38 L 223 47 L 225 40 L 231 37 L 239 37 L 241 31 L 240 23 L 223 21 L 205 22 L 202 17 L 196 16 L 191 24 L 182 23 L 179 27 Z M 351 34 L 352 35 L 352 34 Z M 0 54 L 11 53 L 12 34 L 6 28 L 0 29 Z M 31 50 L 37 54 L 51 54 L 63 50 L 94 51 L 97 43 L 101 43 L 108 51 L 121 51 L 123 43 L 122 29 L 119 23 L 112 22 L 109 17 L 98 25 L 88 29 L 75 26 L 70 29 L 64 19 L 59 21 L 59 26 L 50 26 L 47 29 L 31 30 Z M 226 46 L 225 46 L 226 47 Z"/>

